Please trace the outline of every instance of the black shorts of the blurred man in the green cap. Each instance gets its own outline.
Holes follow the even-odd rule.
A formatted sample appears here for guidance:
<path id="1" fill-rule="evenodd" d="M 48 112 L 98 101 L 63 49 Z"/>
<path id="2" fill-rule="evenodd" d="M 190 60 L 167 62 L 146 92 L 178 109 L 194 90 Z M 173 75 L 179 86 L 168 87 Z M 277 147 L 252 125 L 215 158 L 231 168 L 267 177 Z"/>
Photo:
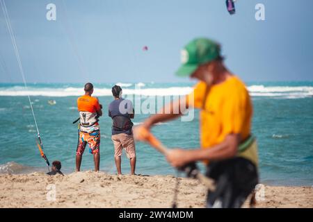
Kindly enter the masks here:
<path id="1" fill-rule="evenodd" d="M 243 157 L 210 162 L 207 176 L 216 181 L 216 190 L 207 195 L 207 207 L 239 208 L 259 182 L 257 167 Z"/>

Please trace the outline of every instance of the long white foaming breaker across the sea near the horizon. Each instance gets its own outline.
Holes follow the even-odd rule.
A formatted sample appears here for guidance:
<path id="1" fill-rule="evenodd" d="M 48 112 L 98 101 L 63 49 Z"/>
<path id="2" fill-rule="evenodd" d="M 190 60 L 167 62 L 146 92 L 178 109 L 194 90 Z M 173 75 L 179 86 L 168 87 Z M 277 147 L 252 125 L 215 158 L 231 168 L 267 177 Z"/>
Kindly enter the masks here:
<path id="1" fill-rule="evenodd" d="M 117 83 L 118 84 L 118 83 Z M 131 86 L 131 83 L 122 83 Z M 130 85 L 129 85 L 130 84 Z M 144 83 L 137 83 L 136 86 L 145 86 Z M 125 86 L 124 86 L 125 87 Z M 179 96 L 189 94 L 192 87 L 164 87 L 164 88 L 131 88 L 123 89 L 124 95 L 141 96 Z M 247 87 L 251 96 L 277 97 L 280 99 L 299 99 L 313 96 L 312 86 L 264 86 L 251 85 Z M 29 87 L 27 91 L 24 87 L 0 88 L 0 96 L 81 96 L 84 94 L 82 88 L 36 88 Z M 112 96 L 111 88 L 95 88 L 95 96 Z M 25 107 L 28 108 L 28 107 Z"/>

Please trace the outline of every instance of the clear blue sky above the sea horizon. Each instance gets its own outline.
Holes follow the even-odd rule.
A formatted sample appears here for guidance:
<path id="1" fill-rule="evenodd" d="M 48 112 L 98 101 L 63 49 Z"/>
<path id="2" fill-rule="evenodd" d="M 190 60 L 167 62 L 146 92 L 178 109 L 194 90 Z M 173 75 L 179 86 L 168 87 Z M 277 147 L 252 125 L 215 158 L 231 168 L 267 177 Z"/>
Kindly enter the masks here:
<path id="1" fill-rule="evenodd" d="M 46 6 L 56 4 L 56 21 Z M 265 21 L 255 20 L 255 5 Z M 26 80 L 37 83 L 182 82 L 179 51 L 194 37 L 223 46 L 245 81 L 313 80 L 313 1 L 6 0 Z M 148 51 L 143 51 L 143 46 Z M 22 82 L 0 10 L 0 82 Z"/>

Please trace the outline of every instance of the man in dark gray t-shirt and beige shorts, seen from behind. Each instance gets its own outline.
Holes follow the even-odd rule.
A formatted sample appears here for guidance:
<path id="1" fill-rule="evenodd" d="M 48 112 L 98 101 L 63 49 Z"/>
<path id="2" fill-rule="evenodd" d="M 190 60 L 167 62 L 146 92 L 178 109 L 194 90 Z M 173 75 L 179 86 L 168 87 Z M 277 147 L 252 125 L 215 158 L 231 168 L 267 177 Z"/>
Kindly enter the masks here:
<path id="1" fill-rule="evenodd" d="M 119 85 L 112 87 L 114 101 L 109 105 L 109 117 L 112 118 L 112 141 L 114 144 L 114 160 L 118 174 L 122 174 L 120 164 L 122 148 L 125 148 L 130 160 L 131 175 L 135 174 L 136 148 L 133 137 L 131 119 L 134 119 L 134 108 L 131 101 L 122 99 L 122 88 Z"/>

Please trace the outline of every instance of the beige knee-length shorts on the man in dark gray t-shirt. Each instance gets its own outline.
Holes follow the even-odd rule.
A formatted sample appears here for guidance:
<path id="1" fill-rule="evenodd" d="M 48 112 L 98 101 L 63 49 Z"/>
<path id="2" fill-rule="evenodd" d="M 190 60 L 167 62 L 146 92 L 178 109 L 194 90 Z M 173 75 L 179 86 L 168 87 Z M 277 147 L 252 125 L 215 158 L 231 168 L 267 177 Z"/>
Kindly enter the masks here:
<path id="1" fill-rule="evenodd" d="M 133 135 L 120 133 L 112 135 L 111 139 L 114 144 L 115 157 L 120 157 L 122 155 L 122 148 L 125 148 L 127 158 L 131 159 L 136 157 L 136 148 Z"/>

